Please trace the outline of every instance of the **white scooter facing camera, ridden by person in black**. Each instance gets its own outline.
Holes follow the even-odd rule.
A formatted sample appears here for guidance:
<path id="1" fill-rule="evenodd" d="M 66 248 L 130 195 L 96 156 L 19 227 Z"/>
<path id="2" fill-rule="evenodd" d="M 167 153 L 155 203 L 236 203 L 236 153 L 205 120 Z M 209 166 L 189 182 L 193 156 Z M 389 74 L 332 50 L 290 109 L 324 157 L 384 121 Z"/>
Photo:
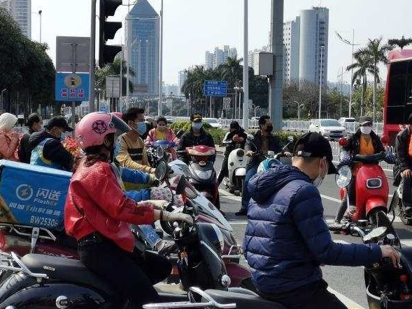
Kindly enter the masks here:
<path id="1" fill-rule="evenodd" d="M 250 158 L 245 156 L 245 151 L 240 148 L 241 144 L 236 144 L 233 141 L 225 144 L 234 144 L 237 149 L 232 150 L 229 153 L 229 158 L 227 158 L 228 176 L 223 179 L 223 186 L 229 190 L 229 193 L 241 195 L 246 176 L 246 166 Z"/>

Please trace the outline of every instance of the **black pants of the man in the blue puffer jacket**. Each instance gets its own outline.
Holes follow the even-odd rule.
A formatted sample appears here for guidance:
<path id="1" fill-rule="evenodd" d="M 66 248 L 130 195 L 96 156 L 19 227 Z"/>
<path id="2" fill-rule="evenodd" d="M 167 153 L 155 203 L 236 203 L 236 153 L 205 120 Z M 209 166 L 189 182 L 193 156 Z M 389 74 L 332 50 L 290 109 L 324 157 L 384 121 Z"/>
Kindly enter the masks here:
<path id="1" fill-rule="evenodd" d="M 334 294 L 327 291 L 325 280 L 313 282 L 284 294 L 262 294 L 261 296 L 264 299 L 281 303 L 288 309 L 348 309 Z"/>

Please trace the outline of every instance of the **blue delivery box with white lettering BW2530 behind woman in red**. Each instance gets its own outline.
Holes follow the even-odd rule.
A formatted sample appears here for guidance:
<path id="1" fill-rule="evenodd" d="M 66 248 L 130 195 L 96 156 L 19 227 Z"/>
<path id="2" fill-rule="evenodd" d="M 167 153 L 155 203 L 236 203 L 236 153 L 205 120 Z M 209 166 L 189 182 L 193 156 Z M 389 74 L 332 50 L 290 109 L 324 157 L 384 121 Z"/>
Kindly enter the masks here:
<path id="1" fill-rule="evenodd" d="M 0 160 L 0 222 L 64 229 L 70 172 Z"/>

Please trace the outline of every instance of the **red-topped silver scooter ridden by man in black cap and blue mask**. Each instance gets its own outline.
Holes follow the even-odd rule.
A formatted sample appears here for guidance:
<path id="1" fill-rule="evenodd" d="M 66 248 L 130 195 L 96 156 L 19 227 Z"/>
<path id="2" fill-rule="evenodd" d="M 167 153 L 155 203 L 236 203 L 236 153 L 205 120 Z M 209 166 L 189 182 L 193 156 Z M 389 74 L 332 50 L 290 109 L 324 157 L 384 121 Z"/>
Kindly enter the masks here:
<path id="1" fill-rule="evenodd" d="M 190 183 L 208 198 L 216 208 L 220 209 L 218 178 L 213 162 L 208 160 L 209 157 L 215 155 L 215 148 L 197 145 L 186 147 L 185 150 L 178 152 L 187 153 L 191 158 L 189 163 Z"/>

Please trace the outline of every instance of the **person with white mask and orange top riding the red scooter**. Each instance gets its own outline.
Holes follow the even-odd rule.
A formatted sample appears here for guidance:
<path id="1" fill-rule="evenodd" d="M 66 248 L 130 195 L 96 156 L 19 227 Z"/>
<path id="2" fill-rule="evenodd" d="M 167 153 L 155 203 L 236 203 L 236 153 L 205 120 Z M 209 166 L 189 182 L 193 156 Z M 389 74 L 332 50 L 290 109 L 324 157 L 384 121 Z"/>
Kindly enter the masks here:
<path id="1" fill-rule="evenodd" d="M 346 151 L 351 157 L 360 155 L 372 155 L 375 153 L 381 153 L 385 151 L 381 139 L 372 130 L 373 122 L 371 117 L 362 116 L 360 118 L 360 128 L 349 137 L 346 146 L 343 146 L 342 151 Z M 357 163 L 360 164 L 360 163 Z M 350 181 L 347 189 L 347 195 L 342 200 L 341 206 L 338 213 L 336 214 L 334 225 L 340 225 L 343 215 L 347 208 L 347 198 L 349 195 L 349 204 L 355 204 L 355 179 L 356 179 L 356 169 L 355 166 L 352 167 L 352 180 Z"/>

